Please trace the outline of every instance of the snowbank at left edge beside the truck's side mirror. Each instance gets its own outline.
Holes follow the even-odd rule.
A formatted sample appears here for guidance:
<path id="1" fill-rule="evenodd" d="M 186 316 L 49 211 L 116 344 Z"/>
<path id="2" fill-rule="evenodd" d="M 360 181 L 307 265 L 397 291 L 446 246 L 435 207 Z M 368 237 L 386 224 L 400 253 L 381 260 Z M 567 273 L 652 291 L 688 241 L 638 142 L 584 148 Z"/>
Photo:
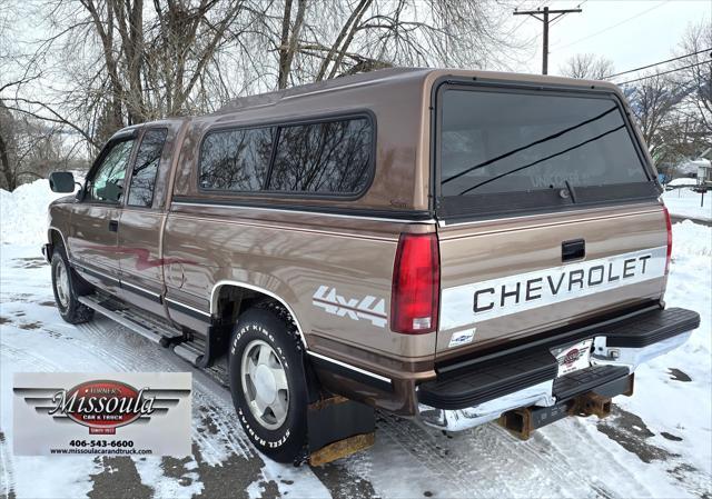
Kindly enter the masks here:
<path id="1" fill-rule="evenodd" d="M 41 244 L 47 240 L 47 207 L 57 198 L 47 179 L 24 183 L 12 192 L 0 189 L 0 241 Z"/>

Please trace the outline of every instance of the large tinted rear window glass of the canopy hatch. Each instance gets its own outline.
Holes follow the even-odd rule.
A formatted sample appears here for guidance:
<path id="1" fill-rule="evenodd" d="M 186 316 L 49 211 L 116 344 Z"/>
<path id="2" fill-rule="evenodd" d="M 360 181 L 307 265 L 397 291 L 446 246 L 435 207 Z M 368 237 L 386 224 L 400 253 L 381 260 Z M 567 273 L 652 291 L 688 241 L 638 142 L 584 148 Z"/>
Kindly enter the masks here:
<path id="1" fill-rule="evenodd" d="M 443 197 L 647 181 L 610 98 L 451 89 L 439 140 Z"/>

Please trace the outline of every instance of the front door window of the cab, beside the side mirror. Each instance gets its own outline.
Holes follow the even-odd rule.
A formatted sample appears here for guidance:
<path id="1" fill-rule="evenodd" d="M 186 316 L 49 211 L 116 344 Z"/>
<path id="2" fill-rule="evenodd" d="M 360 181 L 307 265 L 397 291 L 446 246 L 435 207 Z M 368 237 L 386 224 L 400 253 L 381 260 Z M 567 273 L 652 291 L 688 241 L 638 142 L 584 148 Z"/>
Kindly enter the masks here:
<path id="1" fill-rule="evenodd" d="M 131 157 L 134 140 L 116 142 L 88 182 L 87 200 L 118 202 L 123 194 L 123 179 Z"/>

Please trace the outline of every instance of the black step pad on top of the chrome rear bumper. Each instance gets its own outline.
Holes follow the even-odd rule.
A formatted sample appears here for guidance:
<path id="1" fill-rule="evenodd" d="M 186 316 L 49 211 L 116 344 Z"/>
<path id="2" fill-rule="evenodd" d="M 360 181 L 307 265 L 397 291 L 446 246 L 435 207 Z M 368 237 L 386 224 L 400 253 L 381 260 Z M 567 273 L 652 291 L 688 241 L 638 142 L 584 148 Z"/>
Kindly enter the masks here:
<path id="1" fill-rule="evenodd" d="M 590 333 L 585 338 L 606 337 L 607 347 L 644 348 L 699 326 L 696 312 L 671 308 L 651 310 L 601 328 L 587 328 Z M 576 340 L 585 338 L 576 337 Z M 593 366 L 556 379 L 558 366 L 548 348 L 562 345 L 566 342 L 540 343 L 530 350 L 504 352 L 482 362 L 475 359 L 474 363 L 441 371 L 436 379 L 418 386 L 418 400 L 437 409 L 465 409 L 546 381 L 554 382 L 553 395 L 557 400 L 564 400 L 629 375 L 625 367 Z"/>

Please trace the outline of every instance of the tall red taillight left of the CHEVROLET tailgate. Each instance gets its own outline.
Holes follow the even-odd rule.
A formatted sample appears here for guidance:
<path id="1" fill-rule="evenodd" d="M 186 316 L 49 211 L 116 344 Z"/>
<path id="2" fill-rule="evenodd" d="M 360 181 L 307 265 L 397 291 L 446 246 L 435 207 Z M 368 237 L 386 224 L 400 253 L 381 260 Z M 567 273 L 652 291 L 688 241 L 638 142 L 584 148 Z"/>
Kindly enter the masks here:
<path id="1" fill-rule="evenodd" d="M 393 268 L 390 329 L 422 335 L 437 329 L 441 262 L 435 233 L 403 233 Z"/>

